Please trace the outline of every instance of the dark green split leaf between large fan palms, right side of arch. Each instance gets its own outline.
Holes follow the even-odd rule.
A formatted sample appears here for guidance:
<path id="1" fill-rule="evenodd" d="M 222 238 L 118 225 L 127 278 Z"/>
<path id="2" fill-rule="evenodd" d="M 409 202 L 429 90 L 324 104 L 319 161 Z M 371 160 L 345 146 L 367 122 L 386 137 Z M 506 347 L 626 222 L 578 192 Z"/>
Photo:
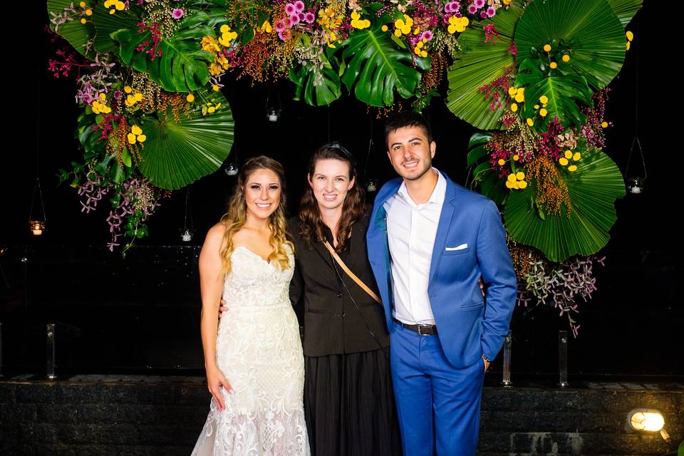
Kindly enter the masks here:
<path id="1" fill-rule="evenodd" d="M 539 110 L 534 109 L 541 96 L 546 96 L 547 115 L 545 118 L 537 118 L 534 122 L 534 129 L 537 131 L 546 130 L 547 120 L 558 117 L 564 122 L 565 128 L 581 126 L 586 123 L 586 115 L 581 112 L 579 103 L 587 106 L 594 105 L 591 100 L 591 89 L 586 83 L 586 79 L 576 73 L 553 73 L 546 76 L 546 73 L 539 68 L 539 61 L 528 58 L 520 64 L 518 77 L 515 85 L 525 87 L 525 103 L 522 110 L 522 118 L 534 118 Z"/>

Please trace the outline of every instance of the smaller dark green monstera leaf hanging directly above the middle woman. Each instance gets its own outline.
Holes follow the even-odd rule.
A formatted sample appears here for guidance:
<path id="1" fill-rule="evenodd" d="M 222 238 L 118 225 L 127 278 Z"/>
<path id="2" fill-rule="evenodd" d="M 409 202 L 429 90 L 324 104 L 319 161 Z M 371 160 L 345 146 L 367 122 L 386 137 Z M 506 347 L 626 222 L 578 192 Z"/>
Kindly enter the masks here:
<path id="1" fill-rule="evenodd" d="M 302 35 L 307 40 L 310 38 Z M 312 106 L 330 105 L 340 98 L 342 94 L 338 64 L 334 56 L 321 54 L 323 58 L 323 80 L 316 86 L 314 72 L 310 66 L 300 66 L 298 69 L 290 68 L 290 81 L 295 88 L 294 99 L 299 101 L 304 98 L 307 104 Z"/>

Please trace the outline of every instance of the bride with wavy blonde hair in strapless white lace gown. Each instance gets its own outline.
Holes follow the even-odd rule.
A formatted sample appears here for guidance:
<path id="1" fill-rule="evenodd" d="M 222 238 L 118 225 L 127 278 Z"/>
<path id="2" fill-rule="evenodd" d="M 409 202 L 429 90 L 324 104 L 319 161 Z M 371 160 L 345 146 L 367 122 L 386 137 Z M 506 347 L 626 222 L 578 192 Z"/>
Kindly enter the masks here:
<path id="1" fill-rule="evenodd" d="M 249 160 L 199 255 L 202 346 L 212 393 L 192 456 L 309 455 L 304 356 L 289 301 L 283 168 Z M 227 302 L 218 323 L 219 301 Z"/>

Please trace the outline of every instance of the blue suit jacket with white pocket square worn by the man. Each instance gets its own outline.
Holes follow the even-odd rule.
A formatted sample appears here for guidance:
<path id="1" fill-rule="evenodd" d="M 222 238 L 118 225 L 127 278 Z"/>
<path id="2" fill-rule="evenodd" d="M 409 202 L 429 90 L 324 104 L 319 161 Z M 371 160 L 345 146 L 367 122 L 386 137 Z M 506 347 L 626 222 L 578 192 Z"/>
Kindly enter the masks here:
<path id="1" fill-rule="evenodd" d="M 497 205 L 448 177 L 446 180 L 427 293 L 445 355 L 453 366 L 462 368 L 472 366 L 483 354 L 494 359 L 499 353 L 515 306 L 517 281 Z M 390 332 L 393 286 L 383 204 L 395 195 L 401 182 L 401 178 L 390 180 L 378 192 L 367 238 L 368 257 Z M 467 248 L 446 250 L 462 244 Z M 486 306 L 481 276 L 488 285 Z"/>

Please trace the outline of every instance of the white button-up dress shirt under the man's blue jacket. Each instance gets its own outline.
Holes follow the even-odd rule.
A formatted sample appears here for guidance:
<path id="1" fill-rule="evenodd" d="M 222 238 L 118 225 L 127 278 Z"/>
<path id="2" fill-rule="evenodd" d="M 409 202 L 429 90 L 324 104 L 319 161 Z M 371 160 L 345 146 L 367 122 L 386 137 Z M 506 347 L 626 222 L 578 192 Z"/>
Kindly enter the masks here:
<path id="1" fill-rule="evenodd" d="M 447 181 L 434 167 L 437 185 L 430 199 L 415 204 L 401 183 L 397 193 L 383 207 L 387 211 L 387 239 L 393 278 L 394 318 L 408 324 L 435 324 L 427 281 L 432 247 L 447 192 Z"/>

